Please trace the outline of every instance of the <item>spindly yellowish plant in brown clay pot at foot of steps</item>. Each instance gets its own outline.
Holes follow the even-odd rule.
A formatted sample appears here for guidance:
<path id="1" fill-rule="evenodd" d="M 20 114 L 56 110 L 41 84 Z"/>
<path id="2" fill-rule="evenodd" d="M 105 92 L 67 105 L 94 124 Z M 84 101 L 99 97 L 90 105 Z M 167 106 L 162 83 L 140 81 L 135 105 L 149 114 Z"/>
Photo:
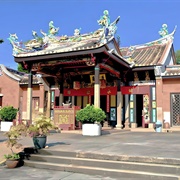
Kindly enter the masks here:
<path id="1" fill-rule="evenodd" d="M 22 144 L 18 143 L 19 138 L 26 134 L 26 126 L 24 124 L 18 124 L 12 126 L 8 132 L 4 135 L 7 137 L 6 144 L 10 148 L 11 153 L 5 154 L 6 165 L 8 168 L 15 168 L 20 164 L 21 157 L 18 150 L 22 147 Z M 15 152 L 15 149 L 16 150 Z"/>

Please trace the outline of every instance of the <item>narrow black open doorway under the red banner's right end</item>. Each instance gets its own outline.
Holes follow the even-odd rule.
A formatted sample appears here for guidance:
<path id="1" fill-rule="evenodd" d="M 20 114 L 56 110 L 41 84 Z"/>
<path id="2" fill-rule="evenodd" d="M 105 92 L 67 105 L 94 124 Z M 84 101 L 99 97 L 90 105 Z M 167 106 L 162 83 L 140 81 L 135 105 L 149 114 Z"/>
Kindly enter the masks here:
<path id="1" fill-rule="evenodd" d="M 136 95 L 136 123 L 137 127 L 142 127 L 142 112 L 143 112 L 143 95 Z"/>

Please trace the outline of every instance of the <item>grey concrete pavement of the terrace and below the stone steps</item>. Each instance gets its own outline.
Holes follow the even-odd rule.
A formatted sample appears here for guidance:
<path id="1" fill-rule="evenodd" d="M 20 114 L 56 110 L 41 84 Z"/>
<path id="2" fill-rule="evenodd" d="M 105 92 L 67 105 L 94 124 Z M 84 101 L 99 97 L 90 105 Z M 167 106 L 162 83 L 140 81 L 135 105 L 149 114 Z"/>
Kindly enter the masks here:
<path id="1" fill-rule="evenodd" d="M 139 159 L 167 160 L 180 164 L 180 132 L 131 132 L 125 130 L 104 130 L 99 137 L 82 136 L 81 132 L 53 133 L 48 136 L 49 149 L 75 151 L 101 156 L 139 157 Z M 4 137 L 0 133 L 0 141 Z M 25 137 L 20 140 L 24 146 L 33 146 L 32 140 Z M 29 167 L 16 169 L 0 168 L 0 179 L 106 179 L 95 175 L 88 176 L 70 172 L 39 170 Z M 40 173 L 38 173 L 40 172 Z M 17 175 L 14 177 L 13 175 Z M 18 175 L 19 173 L 19 175 Z M 21 176 L 22 174 L 22 176 Z M 24 174 L 24 176 L 23 176 Z M 29 179 L 28 179 L 29 178 Z M 111 179 L 111 177 L 107 177 Z"/>

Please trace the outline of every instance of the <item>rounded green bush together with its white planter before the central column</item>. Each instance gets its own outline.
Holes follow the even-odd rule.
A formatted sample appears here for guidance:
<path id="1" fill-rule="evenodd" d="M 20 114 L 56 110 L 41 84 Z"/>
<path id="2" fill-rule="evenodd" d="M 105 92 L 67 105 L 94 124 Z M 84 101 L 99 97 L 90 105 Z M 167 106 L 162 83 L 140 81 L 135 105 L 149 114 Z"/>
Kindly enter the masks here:
<path id="1" fill-rule="evenodd" d="M 76 120 L 82 123 L 82 134 L 87 136 L 101 135 L 101 122 L 105 118 L 106 114 L 101 108 L 90 104 L 76 113 Z"/>

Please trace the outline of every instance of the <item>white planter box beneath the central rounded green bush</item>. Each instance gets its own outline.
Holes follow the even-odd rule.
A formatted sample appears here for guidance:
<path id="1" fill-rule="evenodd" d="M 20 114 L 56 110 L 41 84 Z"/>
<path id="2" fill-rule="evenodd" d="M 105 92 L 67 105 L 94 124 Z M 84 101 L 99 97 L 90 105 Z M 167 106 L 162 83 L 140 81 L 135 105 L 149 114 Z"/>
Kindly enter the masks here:
<path id="1" fill-rule="evenodd" d="M 101 135 L 101 124 L 83 124 L 82 135 L 83 136 L 100 136 Z"/>

